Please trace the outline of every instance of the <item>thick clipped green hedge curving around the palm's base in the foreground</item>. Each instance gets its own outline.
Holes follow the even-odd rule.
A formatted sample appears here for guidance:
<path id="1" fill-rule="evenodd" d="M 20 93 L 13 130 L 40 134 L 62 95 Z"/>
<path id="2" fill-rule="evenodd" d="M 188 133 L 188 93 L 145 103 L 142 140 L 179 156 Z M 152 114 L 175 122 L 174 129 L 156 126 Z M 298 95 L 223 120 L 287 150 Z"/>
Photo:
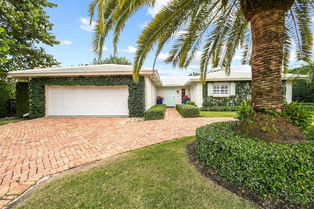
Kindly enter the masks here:
<path id="1" fill-rule="evenodd" d="M 314 141 L 267 143 L 235 134 L 237 125 L 230 121 L 198 128 L 198 160 L 244 192 L 252 189 L 272 200 L 314 207 Z"/>

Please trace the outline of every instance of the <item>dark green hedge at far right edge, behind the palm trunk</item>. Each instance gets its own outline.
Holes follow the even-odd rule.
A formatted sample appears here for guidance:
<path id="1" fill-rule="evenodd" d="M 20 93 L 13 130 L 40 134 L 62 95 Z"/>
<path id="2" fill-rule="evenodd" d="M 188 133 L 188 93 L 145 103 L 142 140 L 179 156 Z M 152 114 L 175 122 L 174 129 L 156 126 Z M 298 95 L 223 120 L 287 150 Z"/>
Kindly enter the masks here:
<path id="1" fill-rule="evenodd" d="M 292 100 L 303 102 L 314 102 L 314 84 L 306 81 L 293 82 Z"/>

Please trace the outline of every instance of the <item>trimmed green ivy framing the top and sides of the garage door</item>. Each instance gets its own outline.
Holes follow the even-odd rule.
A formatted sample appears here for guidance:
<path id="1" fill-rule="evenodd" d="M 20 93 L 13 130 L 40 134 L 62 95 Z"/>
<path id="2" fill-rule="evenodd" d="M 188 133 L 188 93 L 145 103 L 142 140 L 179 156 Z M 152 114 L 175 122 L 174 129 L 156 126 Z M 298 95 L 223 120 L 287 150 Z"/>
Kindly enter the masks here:
<path id="1" fill-rule="evenodd" d="M 138 83 L 131 76 L 106 77 L 57 77 L 33 78 L 28 84 L 29 116 L 37 118 L 45 116 L 45 86 L 129 86 L 129 116 L 143 117 L 145 108 L 145 81 L 140 77 Z"/>

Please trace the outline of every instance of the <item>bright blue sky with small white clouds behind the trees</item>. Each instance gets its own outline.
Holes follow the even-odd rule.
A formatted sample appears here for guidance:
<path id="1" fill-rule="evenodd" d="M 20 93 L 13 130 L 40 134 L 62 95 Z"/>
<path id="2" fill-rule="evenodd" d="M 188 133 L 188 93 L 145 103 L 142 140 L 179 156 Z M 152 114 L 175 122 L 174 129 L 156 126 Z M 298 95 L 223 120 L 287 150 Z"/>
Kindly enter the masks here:
<path id="1" fill-rule="evenodd" d="M 126 57 L 133 63 L 133 57 L 136 50 L 136 40 L 144 25 L 151 20 L 156 14 L 158 8 L 167 0 L 157 0 L 156 8 L 137 12 L 127 22 L 118 45 L 118 56 Z M 62 67 L 78 66 L 79 64 L 89 64 L 92 62 L 95 54 L 91 48 L 93 31 L 89 26 L 88 5 L 90 0 L 49 0 L 58 6 L 44 8 L 47 15 L 50 16 L 50 22 L 54 24 L 52 34 L 61 43 L 53 47 L 40 45 L 46 49 L 46 52 L 52 54 L 53 57 L 61 62 Z M 113 55 L 112 35 L 109 35 L 105 41 L 103 51 L 103 59 Z M 156 69 L 160 76 L 182 76 L 188 75 L 190 72 L 199 72 L 199 52 L 194 61 L 187 70 L 173 69 L 171 64 L 164 64 L 163 60 L 167 56 L 171 43 L 166 46 L 159 54 Z M 154 52 L 151 52 L 144 63 L 144 67 L 153 67 Z M 295 66 L 291 56 L 290 66 Z M 234 58 L 232 70 L 250 70 L 249 66 L 240 65 L 241 52 L 239 51 Z"/>

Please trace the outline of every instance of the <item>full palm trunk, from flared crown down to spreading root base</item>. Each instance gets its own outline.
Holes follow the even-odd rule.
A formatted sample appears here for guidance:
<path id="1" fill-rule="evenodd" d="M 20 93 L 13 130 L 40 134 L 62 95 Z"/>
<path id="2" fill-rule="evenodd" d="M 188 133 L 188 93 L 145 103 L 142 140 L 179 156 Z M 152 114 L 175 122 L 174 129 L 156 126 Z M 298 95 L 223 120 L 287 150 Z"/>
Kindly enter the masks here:
<path id="1" fill-rule="evenodd" d="M 252 107 L 255 122 L 242 121 L 237 131 L 252 138 L 277 143 L 305 140 L 302 132 L 284 117 L 276 119 L 265 113 L 282 112 L 283 84 L 281 80 L 285 13 L 294 0 L 241 0 L 242 13 L 251 24 L 252 33 Z M 271 121 L 267 126 L 267 121 Z M 272 126 L 272 123 L 275 126 Z M 262 127 L 264 130 L 262 130 Z M 274 129 L 273 127 L 276 127 Z M 266 129 L 266 131 L 265 131 Z M 276 130 L 276 131 L 275 131 Z"/>

